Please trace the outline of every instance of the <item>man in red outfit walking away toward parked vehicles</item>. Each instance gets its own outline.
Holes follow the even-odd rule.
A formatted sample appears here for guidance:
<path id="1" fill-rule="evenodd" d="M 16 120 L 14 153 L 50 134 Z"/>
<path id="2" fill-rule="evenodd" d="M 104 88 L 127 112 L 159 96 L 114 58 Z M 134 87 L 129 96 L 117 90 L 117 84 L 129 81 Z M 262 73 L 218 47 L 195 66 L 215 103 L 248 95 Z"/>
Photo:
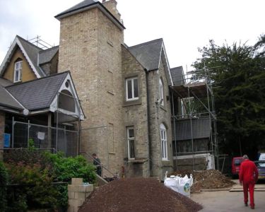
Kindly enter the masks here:
<path id="1" fill-rule="evenodd" d="M 256 165 L 249 160 L 247 155 L 243 155 L 243 162 L 240 165 L 240 184 L 243 184 L 244 189 L 244 202 L 247 206 L 248 196 L 247 190 L 249 190 L 250 207 L 254 209 L 254 186 L 257 182 L 259 172 Z"/>

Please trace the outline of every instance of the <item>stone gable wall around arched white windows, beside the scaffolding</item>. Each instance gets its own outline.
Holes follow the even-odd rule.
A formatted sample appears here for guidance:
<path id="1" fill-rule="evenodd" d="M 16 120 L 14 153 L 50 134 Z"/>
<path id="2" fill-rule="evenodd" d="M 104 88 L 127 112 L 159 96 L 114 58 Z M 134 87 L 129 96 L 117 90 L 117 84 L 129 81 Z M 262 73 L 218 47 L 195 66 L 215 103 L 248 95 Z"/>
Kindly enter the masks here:
<path id="1" fill-rule="evenodd" d="M 159 79 L 163 81 L 164 105 L 160 105 L 159 100 Z M 165 76 L 165 67 L 161 60 L 158 71 L 148 73 L 149 107 L 151 120 L 151 165 L 152 176 L 165 176 L 165 171 L 173 170 L 172 161 L 172 128 L 171 128 L 171 109 L 169 97 L 169 82 Z M 164 124 L 167 130 L 167 160 L 162 160 L 160 124 Z"/>

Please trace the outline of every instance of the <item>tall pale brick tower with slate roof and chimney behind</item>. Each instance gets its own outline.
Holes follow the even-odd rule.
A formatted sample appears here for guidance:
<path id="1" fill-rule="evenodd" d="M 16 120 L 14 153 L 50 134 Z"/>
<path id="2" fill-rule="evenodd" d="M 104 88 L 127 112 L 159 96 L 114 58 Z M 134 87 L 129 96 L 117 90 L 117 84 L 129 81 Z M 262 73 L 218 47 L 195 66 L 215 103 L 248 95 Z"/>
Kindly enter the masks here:
<path id="1" fill-rule="evenodd" d="M 97 153 L 108 169 L 121 172 L 124 26 L 116 6 L 115 0 L 85 0 L 55 18 L 61 23 L 58 71 L 71 71 L 86 115 L 81 151 Z"/>

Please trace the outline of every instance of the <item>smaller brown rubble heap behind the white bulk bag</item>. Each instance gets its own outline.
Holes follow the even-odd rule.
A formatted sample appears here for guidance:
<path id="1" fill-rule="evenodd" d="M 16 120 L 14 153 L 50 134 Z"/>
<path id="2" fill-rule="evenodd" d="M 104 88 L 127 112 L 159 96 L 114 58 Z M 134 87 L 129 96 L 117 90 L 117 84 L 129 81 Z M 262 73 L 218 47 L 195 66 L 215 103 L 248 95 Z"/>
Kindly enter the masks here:
<path id="1" fill-rule="evenodd" d="M 191 170 L 179 170 L 173 172 L 170 175 L 185 175 L 192 174 L 193 185 L 191 192 L 199 192 L 201 189 L 224 189 L 232 187 L 235 182 L 231 179 L 222 175 L 218 170 L 202 170 L 202 171 L 191 171 Z M 167 175 L 170 177 L 170 175 Z"/>

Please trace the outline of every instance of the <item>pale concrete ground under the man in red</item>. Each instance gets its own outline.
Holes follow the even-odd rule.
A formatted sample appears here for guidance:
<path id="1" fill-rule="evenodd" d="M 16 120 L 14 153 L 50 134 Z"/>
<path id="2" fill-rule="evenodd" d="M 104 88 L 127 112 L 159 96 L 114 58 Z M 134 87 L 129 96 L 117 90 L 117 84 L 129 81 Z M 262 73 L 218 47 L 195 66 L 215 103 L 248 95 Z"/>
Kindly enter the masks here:
<path id="1" fill-rule="evenodd" d="M 238 184 L 235 187 L 239 187 Z M 259 185 L 259 187 L 264 187 Z M 243 192 L 201 192 L 191 195 L 192 200 L 198 202 L 204 209 L 201 212 L 244 212 L 244 211 L 265 211 L 265 192 L 254 192 L 255 209 L 246 207 L 243 199 Z"/>

